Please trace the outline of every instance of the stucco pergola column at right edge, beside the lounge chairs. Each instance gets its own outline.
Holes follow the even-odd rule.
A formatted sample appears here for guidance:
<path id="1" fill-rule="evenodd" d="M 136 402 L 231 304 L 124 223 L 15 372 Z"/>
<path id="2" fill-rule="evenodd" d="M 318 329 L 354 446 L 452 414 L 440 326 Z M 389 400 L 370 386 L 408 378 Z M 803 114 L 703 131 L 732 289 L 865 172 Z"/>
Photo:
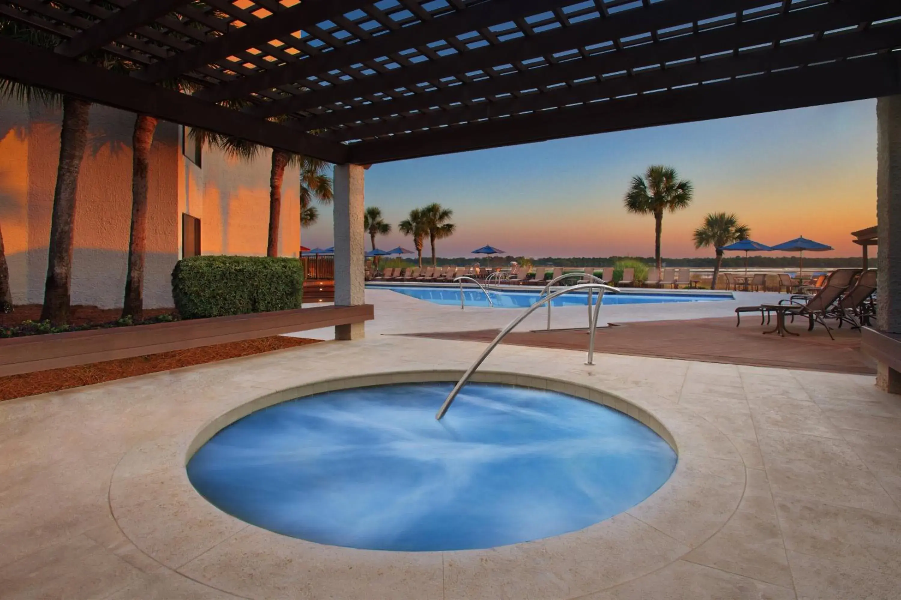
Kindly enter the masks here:
<path id="1" fill-rule="evenodd" d="M 877 327 L 901 333 L 901 95 L 879 98 L 876 104 L 878 218 Z M 901 373 L 878 365 L 876 384 L 901 393 Z"/>

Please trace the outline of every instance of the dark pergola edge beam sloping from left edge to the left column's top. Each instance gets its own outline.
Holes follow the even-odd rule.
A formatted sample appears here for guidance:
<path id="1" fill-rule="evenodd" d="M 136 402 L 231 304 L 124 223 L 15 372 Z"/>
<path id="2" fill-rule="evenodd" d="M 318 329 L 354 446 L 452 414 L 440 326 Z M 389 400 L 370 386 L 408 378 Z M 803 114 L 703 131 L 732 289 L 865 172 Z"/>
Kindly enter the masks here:
<path id="1" fill-rule="evenodd" d="M 342 144 L 255 119 L 187 94 L 0 36 L 0 76 L 138 114 L 218 131 L 331 163 L 345 163 Z"/>

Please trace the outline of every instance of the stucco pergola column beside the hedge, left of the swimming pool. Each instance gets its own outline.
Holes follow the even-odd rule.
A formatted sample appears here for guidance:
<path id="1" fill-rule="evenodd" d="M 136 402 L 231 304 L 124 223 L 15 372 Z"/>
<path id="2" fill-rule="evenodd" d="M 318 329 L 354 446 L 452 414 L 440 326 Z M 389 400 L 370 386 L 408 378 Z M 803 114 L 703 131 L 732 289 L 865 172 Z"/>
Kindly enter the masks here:
<path id="1" fill-rule="evenodd" d="M 360 165 L 336 165 L 334 175 L 335 306 L 364 303 L 365 237 L 363 190 L 366 170 Z M 335 339 L 364 335 L 362 323 L 335 327 Z"/>

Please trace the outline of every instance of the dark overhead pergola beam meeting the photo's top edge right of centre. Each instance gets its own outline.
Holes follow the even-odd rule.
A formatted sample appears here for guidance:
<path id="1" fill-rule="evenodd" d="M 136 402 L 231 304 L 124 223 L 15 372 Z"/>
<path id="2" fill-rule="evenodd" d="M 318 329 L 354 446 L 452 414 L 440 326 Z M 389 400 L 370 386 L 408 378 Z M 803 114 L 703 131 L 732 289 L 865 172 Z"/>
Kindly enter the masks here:
<path id="1" fill-rule="evenodd" d="M 257 116 L 270 117 L 346 102 L 388 90 L 410 89 L 411 86 L 441 77 L 512 64 L 527 58 L 583 48 L 598 42 L 618 40 L 768 4 L 772 4 L 771 0 L 662 0 L 646 7 L 614 13 L 610 18 L 601 21 L 579 22 L 532 37 L 472 49 L 447 58 L 398 68 L 390 73 L 368 76 L 350 83 L 332 85 L 313 92 L 297 94 L 292 98 L 260 104 L 249 112 Z"/>

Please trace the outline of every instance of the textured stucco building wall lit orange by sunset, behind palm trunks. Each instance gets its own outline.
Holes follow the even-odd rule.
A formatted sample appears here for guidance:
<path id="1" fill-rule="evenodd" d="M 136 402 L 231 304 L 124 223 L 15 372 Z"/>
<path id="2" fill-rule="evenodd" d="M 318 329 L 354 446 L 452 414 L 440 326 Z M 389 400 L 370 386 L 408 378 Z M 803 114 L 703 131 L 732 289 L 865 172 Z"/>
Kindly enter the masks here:
<path id="1" fill-rule="evenodd" d="M 61 109 L 0 102 L 0 228 L 14 304 L 40 304 L 59 161 Z M 78 179 L 72 303 L 122 306 L 132 201 L 134 115 L 95 105 Z M 205 148 L 202 168 L 183 155 L 180 126 L 160 121 L 150 150 L 144 306 L 171 307 L 170 274 L 181 213 L 201 219 L 203 254 L 265 255 L 269 153 L 242 163 Z M 280 255 L 299 246 L 298 173 L 283 185 Z"/>

